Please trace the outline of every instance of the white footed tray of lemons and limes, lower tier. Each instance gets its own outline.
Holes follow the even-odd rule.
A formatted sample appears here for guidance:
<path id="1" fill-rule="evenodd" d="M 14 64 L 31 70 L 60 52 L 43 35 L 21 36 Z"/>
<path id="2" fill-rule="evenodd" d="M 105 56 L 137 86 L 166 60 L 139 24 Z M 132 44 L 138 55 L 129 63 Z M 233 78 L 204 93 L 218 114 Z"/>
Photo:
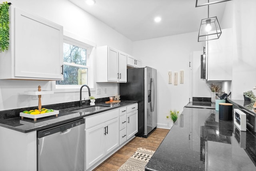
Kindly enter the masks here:
<path id="1" fill-rule="evenodd" d="M 20 112 L 21 119 L 24 117 L 32 118 L 34 121 L 36 121 L 37 118 L 40 117 L 46 117 L 46 116 L 51 116 L 51 115 L 56 115 L 58 117 L 59 111 L 58 110 L 53 110 L 53 109 L 46 109 L 42 108 L 41 111 L 38 109 L 30 110 L 30 111 L 23 111 Z"/>

